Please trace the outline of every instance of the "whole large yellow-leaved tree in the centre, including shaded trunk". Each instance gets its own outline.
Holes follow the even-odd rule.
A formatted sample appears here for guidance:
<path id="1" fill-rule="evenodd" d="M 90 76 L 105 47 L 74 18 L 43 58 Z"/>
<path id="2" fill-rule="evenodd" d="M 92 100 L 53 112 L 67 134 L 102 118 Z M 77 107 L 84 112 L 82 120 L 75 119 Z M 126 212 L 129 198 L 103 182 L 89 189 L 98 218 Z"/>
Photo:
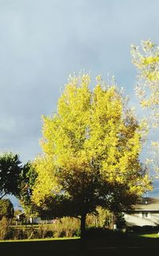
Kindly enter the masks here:
<path id="1" fill-rule="evenodd" d="M 35 160 L 33 201 L 52 215 L 81 219 L 102 206 L 129 208 L 147 189 L 149 177 L 138 160 L 142 127 L 115 86 L 93 91 L 87 74 L 71 76 L 60 96 L 57 113 L 43 116 L 43 156 Z"/>

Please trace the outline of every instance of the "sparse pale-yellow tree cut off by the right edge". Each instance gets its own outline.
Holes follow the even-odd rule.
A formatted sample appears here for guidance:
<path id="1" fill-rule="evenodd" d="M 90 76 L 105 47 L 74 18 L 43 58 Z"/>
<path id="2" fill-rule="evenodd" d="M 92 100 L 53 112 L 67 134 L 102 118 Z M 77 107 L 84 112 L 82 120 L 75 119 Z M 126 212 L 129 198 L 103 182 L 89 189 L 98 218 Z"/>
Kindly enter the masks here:
<path id="1" fill-rule="evenodd" d="M 159 47 L 152 41 L 142 41 L 142 50 L 132 45 L 131 55 L 138 68 L 136 92 L 143 108 L 150 111 L 149 126 L 159 128 Z M 153 169 L 159 172 L 159 141 L 152 142 Z"/>

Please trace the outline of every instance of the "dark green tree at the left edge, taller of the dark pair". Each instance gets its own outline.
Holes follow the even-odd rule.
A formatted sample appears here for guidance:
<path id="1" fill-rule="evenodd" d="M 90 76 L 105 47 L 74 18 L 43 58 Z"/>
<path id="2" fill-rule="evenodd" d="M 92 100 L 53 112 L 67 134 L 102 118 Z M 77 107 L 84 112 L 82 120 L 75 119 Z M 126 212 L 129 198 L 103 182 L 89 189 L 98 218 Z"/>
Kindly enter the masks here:
<path id="1" fill-rule="evenodd" d="M 18 180 L 21 173 L 21 161 L 14 153 L 0 155 L 0 199 L 6 194 L 17 196 Z"/>

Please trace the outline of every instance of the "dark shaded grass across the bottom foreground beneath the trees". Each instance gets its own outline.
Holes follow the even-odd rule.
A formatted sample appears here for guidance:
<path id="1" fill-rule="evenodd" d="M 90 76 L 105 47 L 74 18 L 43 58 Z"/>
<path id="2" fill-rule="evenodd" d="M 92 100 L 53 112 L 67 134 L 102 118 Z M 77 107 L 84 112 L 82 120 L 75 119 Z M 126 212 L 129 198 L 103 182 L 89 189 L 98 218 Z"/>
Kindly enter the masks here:
<path id="1" fill-rule="evenodd" d="M 135 235 L 104 239 L 0 242 L 1 256 L 159 256 L 159 239 Z"/>

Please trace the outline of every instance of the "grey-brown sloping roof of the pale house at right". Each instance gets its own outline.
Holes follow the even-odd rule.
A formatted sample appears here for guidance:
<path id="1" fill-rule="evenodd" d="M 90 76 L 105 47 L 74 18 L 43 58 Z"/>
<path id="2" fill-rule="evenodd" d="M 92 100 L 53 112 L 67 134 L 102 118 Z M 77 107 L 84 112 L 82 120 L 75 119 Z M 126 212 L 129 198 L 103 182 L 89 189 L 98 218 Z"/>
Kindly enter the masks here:
<path id="1" fill-rule="evenodd" d="M 142 197 L 134 205 L 134 211 L 159 211 L 159 198 Z"/>

